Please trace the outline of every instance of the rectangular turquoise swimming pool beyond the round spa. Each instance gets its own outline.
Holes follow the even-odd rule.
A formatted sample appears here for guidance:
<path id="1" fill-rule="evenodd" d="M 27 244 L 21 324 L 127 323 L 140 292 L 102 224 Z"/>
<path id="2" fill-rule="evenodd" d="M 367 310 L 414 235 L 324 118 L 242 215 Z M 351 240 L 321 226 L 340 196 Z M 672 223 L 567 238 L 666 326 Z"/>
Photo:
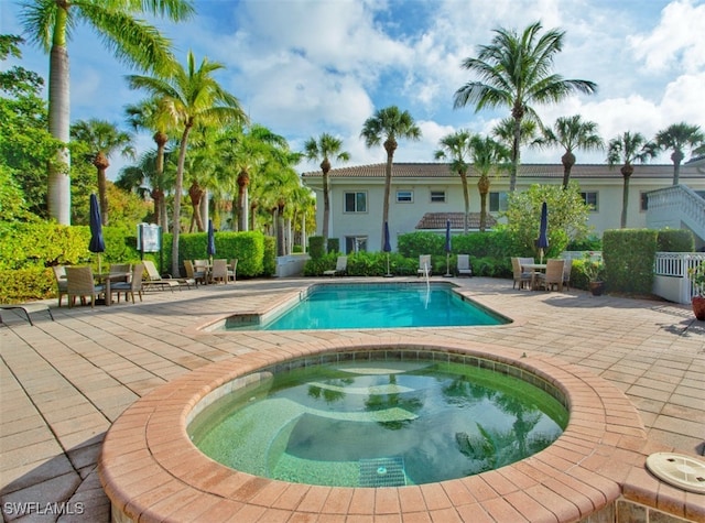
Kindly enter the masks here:
<path id="1" fill-rule="evenodd" d="M 454 291 L 448 283 L 316 284 L 265 316 L 232 316 L 226 330 L 460 327 L 509 319 Z"/>

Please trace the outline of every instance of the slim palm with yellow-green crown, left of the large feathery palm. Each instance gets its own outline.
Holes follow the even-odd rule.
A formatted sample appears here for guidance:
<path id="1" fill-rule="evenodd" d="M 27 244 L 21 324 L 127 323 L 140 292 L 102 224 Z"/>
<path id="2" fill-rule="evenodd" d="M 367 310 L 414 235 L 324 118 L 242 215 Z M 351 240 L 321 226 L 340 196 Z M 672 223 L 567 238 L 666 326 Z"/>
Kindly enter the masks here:
<path id="1" fill-rule="evenodd" d="M 156 98 L 128 105 L 124 108 L 127 121 L 134 131 L 148 129 L 154 131 L 152 140 L 156 144 L 156 156 L 153 175 L 150 175 L 151 197 L 154 201 L 154 217 L 156 225 L 166 228 L 166 187 L 164 182 L 164 157 L 170 131 L 177 124 L 175 115 L 170 112 L 164 103 Z"/>

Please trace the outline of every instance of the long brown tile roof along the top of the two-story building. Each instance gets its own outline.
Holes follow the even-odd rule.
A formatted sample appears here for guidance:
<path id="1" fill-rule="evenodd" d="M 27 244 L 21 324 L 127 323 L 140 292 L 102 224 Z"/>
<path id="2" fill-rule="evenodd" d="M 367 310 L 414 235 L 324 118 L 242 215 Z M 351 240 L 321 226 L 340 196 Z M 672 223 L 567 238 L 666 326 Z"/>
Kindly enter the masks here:
<path id="1" fill-rule="evenodd" d="M 634 173 L 632 178 L 673 178 L 673 165 L 672 164 L 646 164 L 634 165 Z M 471 177 L 477 177 L 477 173 L 471 170 L 468 173 Z M 492 176 L 496 176 L 492 173 Z M 323 176 L 321 171 L 312 171 L 303 173 L 304 178 L 316 178 Z M 356 165 L 351 167 L 333 168 L 328 173 L 332 178 L 362 178 L 362 177 L 383 177 L 384 164 L 369 164 L 369 165 Z M 443 178 L 455 177 L 456 173 L 452 173 L 447 163 L 394 163 L 393 166 L 394 178 Z M 501 173 L 501 177 L 508 177 L 509 174 Z M 521 164 L 519 166 L 519 177 L 541 177 L 541 178 L 563 178 L 563 165 L 562 164 Z M 619 173 L 619 166 L 610 168 L 606 164 L 578 164 L 574 165 L 571 170 L 572 178 L 611 178 L 615 176 L 621 177 Z M 694 165 L 682 164 L 681 165 L 681 178 L 703 177 L 703 174 L 697 171 Z"/>

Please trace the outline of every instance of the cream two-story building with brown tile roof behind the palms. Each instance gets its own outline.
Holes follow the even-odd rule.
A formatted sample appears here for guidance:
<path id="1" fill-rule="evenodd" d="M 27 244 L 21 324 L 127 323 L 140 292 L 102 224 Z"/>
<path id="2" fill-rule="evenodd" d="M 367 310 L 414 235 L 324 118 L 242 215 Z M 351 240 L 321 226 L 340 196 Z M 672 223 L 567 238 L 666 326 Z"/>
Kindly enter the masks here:
<path id="1" fill-rule="evenodd" d="M 380 251 L 382 246 L 382 206 L 384 197 L 384 164 L 333 168 L 328 173 L 330 213 L 328 236 L 338 238 L 344 252 Z M 302 175 L 306 186 L 316 194 L 316 233 L 323 229 L 323 173 Z M 619 166 L 575 165 L 571 179 L 579 184 L 585 200 L 594 206 L 588 225 L 600 236 L 607 229 L 620 227 L 623 178 Z M 470 230 L 479 225 L 480 197 L 478 176 L 470 170 Z M 533 184 L 556 184 L 563 181 L 563 165 L 524 164 L 519 167 L 517 190 Z M 673 165 L 634 165 L 629 183 L 627 227 L 688 228 L 696 237 L 696 247 L 705 244 L 705 173 L 697 165 L 681 166 L 680 185 L 673 187 Z M 660 190 L 669 189 L 669 190 Z M 495 217 L 506 208 L 509 175 L 491 177 L 488 210 Z M 652 193 L 658 190 L 658 193 Z M 661 219 L 648 220 L 649 193 L 659 196 Z M 454 232 L 463 231 L 464 198 L 460 177 L 443 163 L 394 163 L 390 193 L 389 230 L 392 249 L 399 235 L 415 230 L 444 231 L 446 219 Z M 681 216 L 683 215 L 683 216 Z M 665 219 L 668 218 L 668 219 Z"/>

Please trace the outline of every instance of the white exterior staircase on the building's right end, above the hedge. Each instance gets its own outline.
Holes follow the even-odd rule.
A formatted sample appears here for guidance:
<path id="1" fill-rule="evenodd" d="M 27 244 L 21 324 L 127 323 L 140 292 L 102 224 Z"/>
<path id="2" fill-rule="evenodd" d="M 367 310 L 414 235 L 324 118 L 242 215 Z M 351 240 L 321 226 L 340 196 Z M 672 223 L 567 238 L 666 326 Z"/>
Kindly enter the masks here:
<path id="1" fill-rule="evenodd" d="M 685 185 L 672 185 L 649 193 L 647 228 L 690 229 L 695 248 L 705 247 L 705 198 Z"/>

